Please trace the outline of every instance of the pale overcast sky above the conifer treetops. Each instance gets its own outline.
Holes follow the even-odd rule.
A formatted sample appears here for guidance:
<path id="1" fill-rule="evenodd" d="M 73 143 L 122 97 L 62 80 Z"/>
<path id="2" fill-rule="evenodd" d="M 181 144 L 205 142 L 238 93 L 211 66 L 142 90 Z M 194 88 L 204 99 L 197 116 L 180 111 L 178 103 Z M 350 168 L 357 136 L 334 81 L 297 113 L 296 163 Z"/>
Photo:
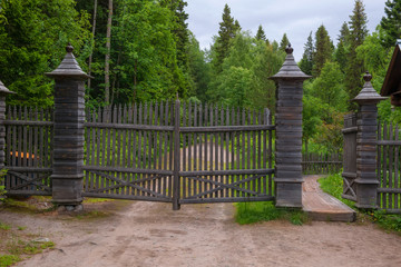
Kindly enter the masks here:
<path id="1" fill-rule="evenodd" d="M 243 30 L 255 34 L 263 26 L 268 40 L 280 40 L 285 32 L 294 48 L 296 61 L 302 57 L 310 32 L 315 33 L 323 23 L 336 43 L 340 28 L 350 21 L 354 0 L 187 0 L 188 27 L 202 48 L 208 48 L 212 37 L 218 32 L 224 4 L 228 3 L 232 16 Z M 369 32 L 374 31 L 384 16 L 385 0 L 363 0 L 368 14 Z"/>

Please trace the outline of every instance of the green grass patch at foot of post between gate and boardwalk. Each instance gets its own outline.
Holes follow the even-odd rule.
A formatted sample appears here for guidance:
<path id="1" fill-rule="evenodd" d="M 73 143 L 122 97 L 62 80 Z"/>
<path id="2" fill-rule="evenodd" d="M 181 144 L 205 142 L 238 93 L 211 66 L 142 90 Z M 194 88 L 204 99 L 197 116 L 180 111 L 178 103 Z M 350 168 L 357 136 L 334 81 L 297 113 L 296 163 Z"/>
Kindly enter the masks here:
<path id="1" fill-rule="evenodd" d="M 270 220 L 287 220 L 293 225 L 303 225 L 309 217 L 300 209 L 276 208 L 273 202 L 236 204 L 235 221 L 239 225 Z"/>

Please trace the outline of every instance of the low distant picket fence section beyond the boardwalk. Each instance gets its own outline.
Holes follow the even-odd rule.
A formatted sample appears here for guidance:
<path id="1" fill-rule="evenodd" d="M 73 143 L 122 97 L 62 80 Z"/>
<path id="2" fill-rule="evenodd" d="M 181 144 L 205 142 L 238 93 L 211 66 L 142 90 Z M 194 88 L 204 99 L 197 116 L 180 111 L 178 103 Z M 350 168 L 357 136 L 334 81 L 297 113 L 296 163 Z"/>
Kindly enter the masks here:
<path id="1" fill-rule="evenodd" d="M 339 154 L 302 154 L 303 175 L 338 174 L 342 164 L 342 156 Z"/>

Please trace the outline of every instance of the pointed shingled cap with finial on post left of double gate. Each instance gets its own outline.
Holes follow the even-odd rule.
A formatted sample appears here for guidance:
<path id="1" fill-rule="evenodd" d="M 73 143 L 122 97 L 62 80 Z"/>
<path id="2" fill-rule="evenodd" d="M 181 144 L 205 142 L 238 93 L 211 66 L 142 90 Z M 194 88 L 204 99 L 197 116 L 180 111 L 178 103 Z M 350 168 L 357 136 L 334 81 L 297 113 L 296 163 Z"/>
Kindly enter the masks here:
<path id="1" fill-rule="evenodd" d="M 82 80 L 94 78 L 85 73 L 79 67 L 72 53 L 74 47 L 70 43 L 68 43 L 68 46 L 66 47 L 66 51 L 67 55 L 61 61 L 60 66 L 53 71 L 45 73 L 46 76 L 51 78 L 77 78 Z"/>

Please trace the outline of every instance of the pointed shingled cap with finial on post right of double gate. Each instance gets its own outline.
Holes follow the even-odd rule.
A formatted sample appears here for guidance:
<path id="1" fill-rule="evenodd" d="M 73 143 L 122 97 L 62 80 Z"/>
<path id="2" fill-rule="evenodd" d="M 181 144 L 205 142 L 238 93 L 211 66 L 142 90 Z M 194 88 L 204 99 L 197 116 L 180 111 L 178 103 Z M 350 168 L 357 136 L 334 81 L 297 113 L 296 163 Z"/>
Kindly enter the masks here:
<path id="1" fill-rule="evenodd" d="M 300 67 L 296 65 L 294 56 L 293 56 L 294 49 L 291 47 L 291 43 L 288 43 L 288 47 L 285 48 L 285 52 L 287 56 L 285 57 L 285 61 L 283 63 L 283 67 L 278 70 L 278 72 L 270 77 L 271 80 L 307 80 L 312 78 L 312 76 L 307 76 Z"/>

